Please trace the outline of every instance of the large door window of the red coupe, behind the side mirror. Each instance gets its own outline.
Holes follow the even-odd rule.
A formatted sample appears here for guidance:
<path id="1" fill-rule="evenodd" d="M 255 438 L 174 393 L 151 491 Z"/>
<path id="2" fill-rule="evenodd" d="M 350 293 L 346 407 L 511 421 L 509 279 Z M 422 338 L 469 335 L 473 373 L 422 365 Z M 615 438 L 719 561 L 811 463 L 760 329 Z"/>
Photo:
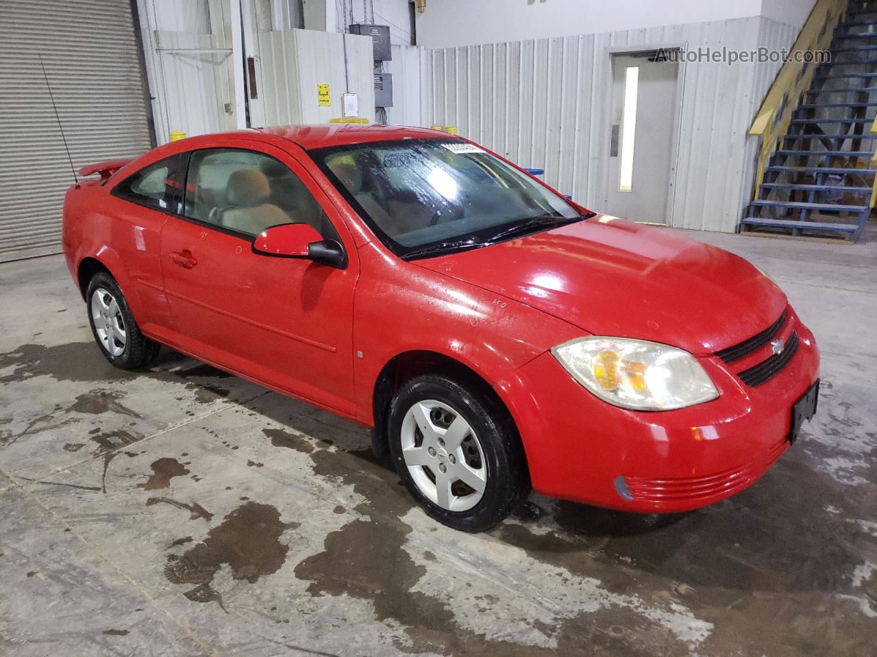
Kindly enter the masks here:
<path id="1" fill-rule="evenodd" d="M 337 238 L 308 188 L 277 159 L 238 149 L 192 153 L 184 214 L 246 235 L 280 223 L 308 223 Z"/>

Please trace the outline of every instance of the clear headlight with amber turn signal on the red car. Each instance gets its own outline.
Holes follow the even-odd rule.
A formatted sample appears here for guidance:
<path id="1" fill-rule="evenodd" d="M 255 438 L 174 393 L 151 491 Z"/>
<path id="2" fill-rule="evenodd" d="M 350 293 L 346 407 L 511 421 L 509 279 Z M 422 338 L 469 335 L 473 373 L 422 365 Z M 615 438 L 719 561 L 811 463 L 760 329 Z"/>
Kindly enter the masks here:
<path id="1" fill-rule="evenodd" d="M 716 386 L 691 354 L 624 337 L 583 337 L 552 353 L 600 399 L 640 411 L 667 411 L 716 399 Z"/>

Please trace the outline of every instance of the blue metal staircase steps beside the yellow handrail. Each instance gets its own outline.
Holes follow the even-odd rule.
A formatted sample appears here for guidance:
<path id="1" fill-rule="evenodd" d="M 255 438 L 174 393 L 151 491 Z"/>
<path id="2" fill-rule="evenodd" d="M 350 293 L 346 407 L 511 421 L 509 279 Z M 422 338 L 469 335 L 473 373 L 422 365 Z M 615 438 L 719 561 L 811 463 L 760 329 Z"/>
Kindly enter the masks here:
<path id="1" fill-rule="evenodd" d="M 856 241 L 871 214 L 877 0 L 852 0 L 764 168 L 741 230 Z"/>

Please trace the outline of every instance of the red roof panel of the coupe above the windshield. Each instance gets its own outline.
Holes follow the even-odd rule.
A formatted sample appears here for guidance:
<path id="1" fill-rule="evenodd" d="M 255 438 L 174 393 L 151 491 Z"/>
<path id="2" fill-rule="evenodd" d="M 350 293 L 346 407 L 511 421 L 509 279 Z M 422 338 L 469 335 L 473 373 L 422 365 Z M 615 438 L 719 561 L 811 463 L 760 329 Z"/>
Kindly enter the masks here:
<path id="1" fill-rule="evenodd" d="M 266 135 L 289 139 L 305 150 L 371 141 L 453 138 L 453 135 L 447 132 L 429 128 L 376 124 L 279 125 L 255 130 Z"/>

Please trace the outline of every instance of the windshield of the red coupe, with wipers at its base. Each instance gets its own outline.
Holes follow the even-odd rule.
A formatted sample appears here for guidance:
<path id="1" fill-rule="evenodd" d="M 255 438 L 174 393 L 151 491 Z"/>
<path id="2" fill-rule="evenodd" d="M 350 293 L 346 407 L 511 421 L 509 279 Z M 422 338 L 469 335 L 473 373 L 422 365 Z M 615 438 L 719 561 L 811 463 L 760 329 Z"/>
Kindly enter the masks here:
<path id="1" fill-rule="evenodd" d="M 566 199 L 461 139 L 344 145 L 310 155 L 402 258 L 475 248 L 581 219 Z"/>

